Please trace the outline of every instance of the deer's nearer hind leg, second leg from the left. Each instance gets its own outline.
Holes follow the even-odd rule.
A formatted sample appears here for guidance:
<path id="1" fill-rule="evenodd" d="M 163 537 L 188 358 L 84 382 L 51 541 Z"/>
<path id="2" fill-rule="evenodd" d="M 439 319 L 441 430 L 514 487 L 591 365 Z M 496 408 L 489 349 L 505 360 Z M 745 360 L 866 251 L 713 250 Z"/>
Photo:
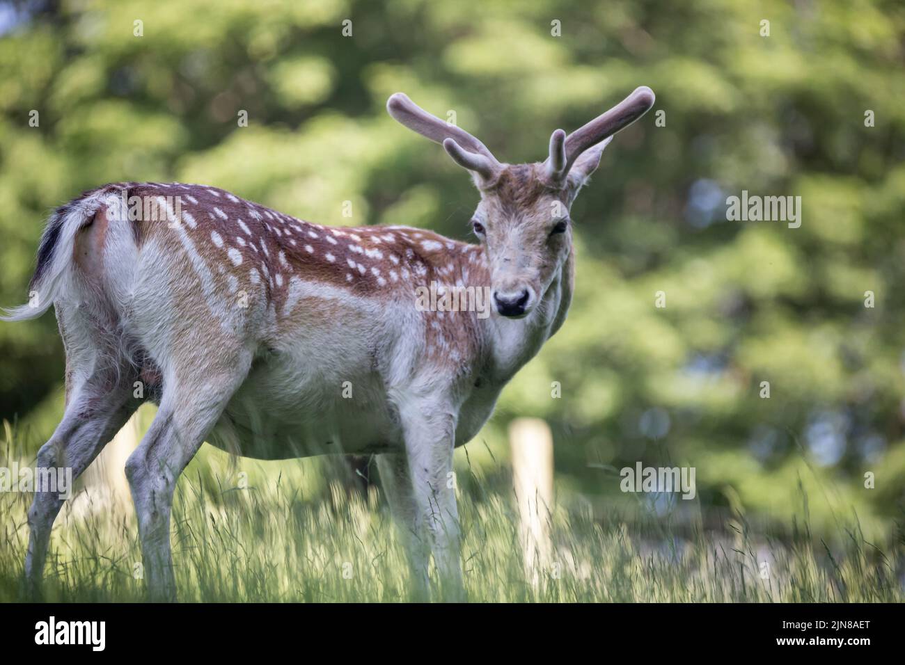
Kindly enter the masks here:
<path id="1" fill-rule="evenodd" d="M 211 354 L 214 356 L 214 353 Z M 138 516 L 138 535 L 152 601 L 176 600 L 170 547 L 170 512 L 176 480 L 185 470 L 251 366 L 250 352 L 216 351 L 215 366 L 180 366 L 166 375 L 160 408 L 126 462 L 126 477 Z"/>

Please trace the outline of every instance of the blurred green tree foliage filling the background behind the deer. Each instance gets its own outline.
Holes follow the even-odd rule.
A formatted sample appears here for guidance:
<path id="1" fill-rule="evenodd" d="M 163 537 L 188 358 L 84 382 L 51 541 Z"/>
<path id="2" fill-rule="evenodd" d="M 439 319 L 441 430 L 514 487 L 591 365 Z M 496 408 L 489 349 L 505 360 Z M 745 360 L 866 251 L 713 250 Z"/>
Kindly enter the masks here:
<path id="1" fill-rule="evenodd" d="M 566 326 L 457 464 L 506 486 L 510 422 L 534 416 L 553 434 L 557 502 L 599 520 L 633 500 L 617 470 L 640 460 L 694 466 L 705 524 L 744 510 L 781 534 L 809 510 L 815 529 L 856 516 L 901 542 L 903 64 L 894 1 L 0 2 L 0 303 L 27 299 L 49 211 L 111 181 L 471 239 L 469 177 L 386 115 L 388 95 L 454 111 L 519 162 L 648 85 L 653 111 L 573 209 Z M 728 222 L 743 189 L 801 196 L 801 227 Z M 52 316 L 0 325 L 0 358 L 0 418 L 33 455 L 62 413 Z M 312 470 L 343 472 L 240 465 L 302 469 L 312 500 L 328 491 Z M 681 524 L 692 502 L 666 499 L 650 509 Z"/>

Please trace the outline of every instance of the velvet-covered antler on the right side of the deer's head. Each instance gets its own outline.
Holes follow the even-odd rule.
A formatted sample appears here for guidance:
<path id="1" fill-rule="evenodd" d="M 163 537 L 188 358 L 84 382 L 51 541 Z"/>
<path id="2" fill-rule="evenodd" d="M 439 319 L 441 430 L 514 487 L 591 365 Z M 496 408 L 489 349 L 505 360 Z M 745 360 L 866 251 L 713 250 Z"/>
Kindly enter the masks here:
<path id="1" fill-rule="evenodd" d="M 544 163 L 548 178 L 555 182 L 565 180 L 579 155 L 641 118 L 653 107 L 654 99 L 653 90 L 641 86 L 612 109 L 568 136 L 562 129 L 557 129 L 550 137 L 550 156 Z"/>

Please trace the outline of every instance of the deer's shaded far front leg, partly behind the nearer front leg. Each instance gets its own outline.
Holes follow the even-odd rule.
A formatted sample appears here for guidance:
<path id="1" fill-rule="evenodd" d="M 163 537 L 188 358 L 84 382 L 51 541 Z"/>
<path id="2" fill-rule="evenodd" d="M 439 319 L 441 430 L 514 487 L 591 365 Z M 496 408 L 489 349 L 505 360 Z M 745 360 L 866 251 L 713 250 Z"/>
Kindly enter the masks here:
<path id="1" fill-rule="evenodd" d="M 414 600 L 427 600 L 430 589 L 427 577 L 430 545 L 424 540 L 424 522 L 415 503 L 408 460 L 404 453 L 377 455 L 377 470 L 380 471 L 380 486 L 386 494 L 386 501 L 408 556 L 411 596 Z"/>

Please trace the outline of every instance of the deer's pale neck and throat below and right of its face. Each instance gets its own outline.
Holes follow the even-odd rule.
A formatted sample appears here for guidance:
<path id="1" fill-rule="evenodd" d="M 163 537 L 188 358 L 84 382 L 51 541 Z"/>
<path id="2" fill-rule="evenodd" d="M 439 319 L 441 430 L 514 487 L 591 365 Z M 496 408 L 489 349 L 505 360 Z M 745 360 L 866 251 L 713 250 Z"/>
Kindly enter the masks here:
<path id="1" fill-rule="evenodd" d="M 574 251 L 557 271 L 537 306 L 525 318 L 500 317 L 495 312 L 485 318 L 490 353 L 488 374 L 495 384 L 505 384 L 566 320 L 575 281 Z"/>

